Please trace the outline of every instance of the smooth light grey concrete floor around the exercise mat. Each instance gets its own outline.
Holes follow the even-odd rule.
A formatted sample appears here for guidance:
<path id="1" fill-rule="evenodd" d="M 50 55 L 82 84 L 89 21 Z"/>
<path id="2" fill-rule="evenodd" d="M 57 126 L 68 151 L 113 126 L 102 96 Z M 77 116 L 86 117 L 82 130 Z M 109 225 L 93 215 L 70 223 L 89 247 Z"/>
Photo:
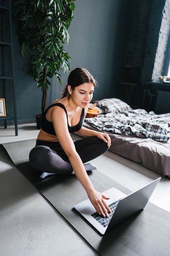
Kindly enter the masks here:
<path id="1" fill-rule="evenodd" d="M 35 124 L 19 125 L 18 136 L 14 126 L 0 127 L 0 144 L 36 139 L 38 132 Z M 131 191 L 160 177 L 110 151 L 92 162 L 98 171 Z M 161 178 L 150 202 L 170 211 L 170 180 Z M 4 151 L 0 151 L 0 255 L 98 255 L 15 168 Z"/>

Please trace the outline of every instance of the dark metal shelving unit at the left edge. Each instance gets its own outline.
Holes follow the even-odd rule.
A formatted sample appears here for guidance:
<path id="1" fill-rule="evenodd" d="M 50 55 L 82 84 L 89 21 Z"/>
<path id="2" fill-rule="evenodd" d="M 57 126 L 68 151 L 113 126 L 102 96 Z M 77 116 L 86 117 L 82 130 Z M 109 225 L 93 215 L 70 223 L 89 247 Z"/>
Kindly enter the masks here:
<path id="1" fill-rule="evenodd" d="M 4 128 L 7 121 L 14 121 L 17 136 L 11 0 L 0 0 L 0 98 L 5 99 L 7 112 L 0 121 L 4 121 Z"/>

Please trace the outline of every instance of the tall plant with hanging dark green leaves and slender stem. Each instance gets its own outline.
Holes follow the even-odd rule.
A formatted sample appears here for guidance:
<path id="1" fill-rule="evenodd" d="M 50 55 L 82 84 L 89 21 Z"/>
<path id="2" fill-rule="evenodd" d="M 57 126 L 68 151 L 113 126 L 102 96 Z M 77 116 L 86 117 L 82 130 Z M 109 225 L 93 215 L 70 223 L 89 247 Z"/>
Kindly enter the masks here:
<path id="1" fill-rule="evenodd" d="M 54 75 L 61 83 L 60 70 L 70 71 L 71 58 L 63 49 L 69 41 L 68 28 L 73 19 L 75 0 L 13 0 L 13 15 L 19 22 L 21 54 L 33 55 L 24 67 L 42 89 L 41 110 L 46 109 L 49 79 Z M 38 116 L 38 115 L 37 115 Z M 37 124 L 40 128 L 40 124 Z"/>

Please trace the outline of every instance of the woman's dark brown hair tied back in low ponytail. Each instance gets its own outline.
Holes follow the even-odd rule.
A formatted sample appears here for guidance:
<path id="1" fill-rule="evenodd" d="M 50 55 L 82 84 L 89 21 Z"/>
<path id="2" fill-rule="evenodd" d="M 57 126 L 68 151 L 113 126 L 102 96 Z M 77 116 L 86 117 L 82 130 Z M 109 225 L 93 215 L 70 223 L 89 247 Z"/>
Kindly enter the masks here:
<path id="1" fill-rule="evenodd" d="M 68 85 L 71 86 L 71 89 L 74 90 L 75 87 L 81 85 L 82 83 L 93 83 L 94 86 L 97 85 L 97 81 L 85 68 L 77 67 L 75 70 L 72 70 L 68 76 L 67 85 L 64 86 L 62 90 L 61 99 L 69 95 Z"/>

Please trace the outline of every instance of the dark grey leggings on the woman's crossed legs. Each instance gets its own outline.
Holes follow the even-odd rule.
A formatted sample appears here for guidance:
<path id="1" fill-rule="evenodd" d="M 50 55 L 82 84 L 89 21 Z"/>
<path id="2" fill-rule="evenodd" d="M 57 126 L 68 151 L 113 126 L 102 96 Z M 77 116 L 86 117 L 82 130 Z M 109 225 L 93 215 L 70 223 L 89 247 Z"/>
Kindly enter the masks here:
<path id="1" fill-rule="evenodd" d="M 91 161 L 108 150 L 107 143 L 97 137 L 86 137 L 74 142 L 83 163 Z M 31 166 L 38 172 L 71 174 L 73 168 L 59 142 L 37 140 L 29 154 Z"/>

